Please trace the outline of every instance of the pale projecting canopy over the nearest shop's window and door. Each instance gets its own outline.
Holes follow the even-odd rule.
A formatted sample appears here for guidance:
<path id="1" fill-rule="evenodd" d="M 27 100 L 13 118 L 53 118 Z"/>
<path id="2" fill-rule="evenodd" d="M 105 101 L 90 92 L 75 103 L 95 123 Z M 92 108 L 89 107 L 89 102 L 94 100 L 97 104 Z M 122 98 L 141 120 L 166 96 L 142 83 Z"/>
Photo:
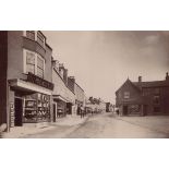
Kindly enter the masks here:
<path id="1" fill-rule="evenodd" d="M 21 89 L 21 90 L 25 90 L 25 92 L 37 92 L 37 93 L 41 93 L 41 94 L 46 94 L 46 95 L 51 95 L 52 90 L 38 86 L 36 84 L 29 83 L 29 82 L 25 82 L 23 80 L 20 79 L 15 79 L 15 80 L 9 80 L 10 86 L 16 88 L 16 89 Z"/>

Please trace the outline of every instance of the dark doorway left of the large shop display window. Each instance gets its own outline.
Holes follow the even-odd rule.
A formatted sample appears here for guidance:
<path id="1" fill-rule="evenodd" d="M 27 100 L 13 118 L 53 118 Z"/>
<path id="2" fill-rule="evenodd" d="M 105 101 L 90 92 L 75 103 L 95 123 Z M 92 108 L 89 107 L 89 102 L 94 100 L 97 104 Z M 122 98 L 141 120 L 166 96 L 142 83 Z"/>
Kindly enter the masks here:
<path id="1" fill-rule="evenodd" d="M 14 125 L 15 126 L 22 126 L 23 122 L 22 122 L 22 117 L 23 117 L 23 102 L 21 98 L 15 98 L 14 99 L 14 108 L 15 108 L 15 112 L 14 112 Z"/>

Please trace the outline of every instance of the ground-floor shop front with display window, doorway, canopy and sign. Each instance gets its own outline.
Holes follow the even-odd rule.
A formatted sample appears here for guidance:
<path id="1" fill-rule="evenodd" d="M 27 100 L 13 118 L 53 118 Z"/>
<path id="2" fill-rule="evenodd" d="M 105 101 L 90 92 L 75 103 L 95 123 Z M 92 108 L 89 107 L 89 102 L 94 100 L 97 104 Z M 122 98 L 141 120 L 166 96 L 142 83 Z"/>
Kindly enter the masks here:
<path id="1" fill-rule="evenodd" d="M 34 80 L 9 81 L 9 124 L 11 128 L 22 126 L 24 123 L 51 121 L 53 85 L 39 77 L 34 76 Z"/>

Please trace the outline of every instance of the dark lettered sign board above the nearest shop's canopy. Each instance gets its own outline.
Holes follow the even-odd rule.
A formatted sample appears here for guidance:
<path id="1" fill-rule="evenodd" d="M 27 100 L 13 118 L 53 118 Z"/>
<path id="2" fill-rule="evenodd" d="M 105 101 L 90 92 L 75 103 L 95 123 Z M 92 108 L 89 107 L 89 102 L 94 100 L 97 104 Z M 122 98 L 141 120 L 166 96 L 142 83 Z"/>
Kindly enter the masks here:
<path id="1" fill-rule="evenodd" d="M 45 81 L 38 76 L 36 76 L 35 74 L 33 73 L 28 73 L 27 74 L 27 82 L 31 82 L 31 83 L 34 83 L 36 85 L 39 85 L 41 87 L 45 87 L 45 88 L 48 88 L 48 89 L 53 89 L 53 84 L 48 82 L 48 81 Z"/>

